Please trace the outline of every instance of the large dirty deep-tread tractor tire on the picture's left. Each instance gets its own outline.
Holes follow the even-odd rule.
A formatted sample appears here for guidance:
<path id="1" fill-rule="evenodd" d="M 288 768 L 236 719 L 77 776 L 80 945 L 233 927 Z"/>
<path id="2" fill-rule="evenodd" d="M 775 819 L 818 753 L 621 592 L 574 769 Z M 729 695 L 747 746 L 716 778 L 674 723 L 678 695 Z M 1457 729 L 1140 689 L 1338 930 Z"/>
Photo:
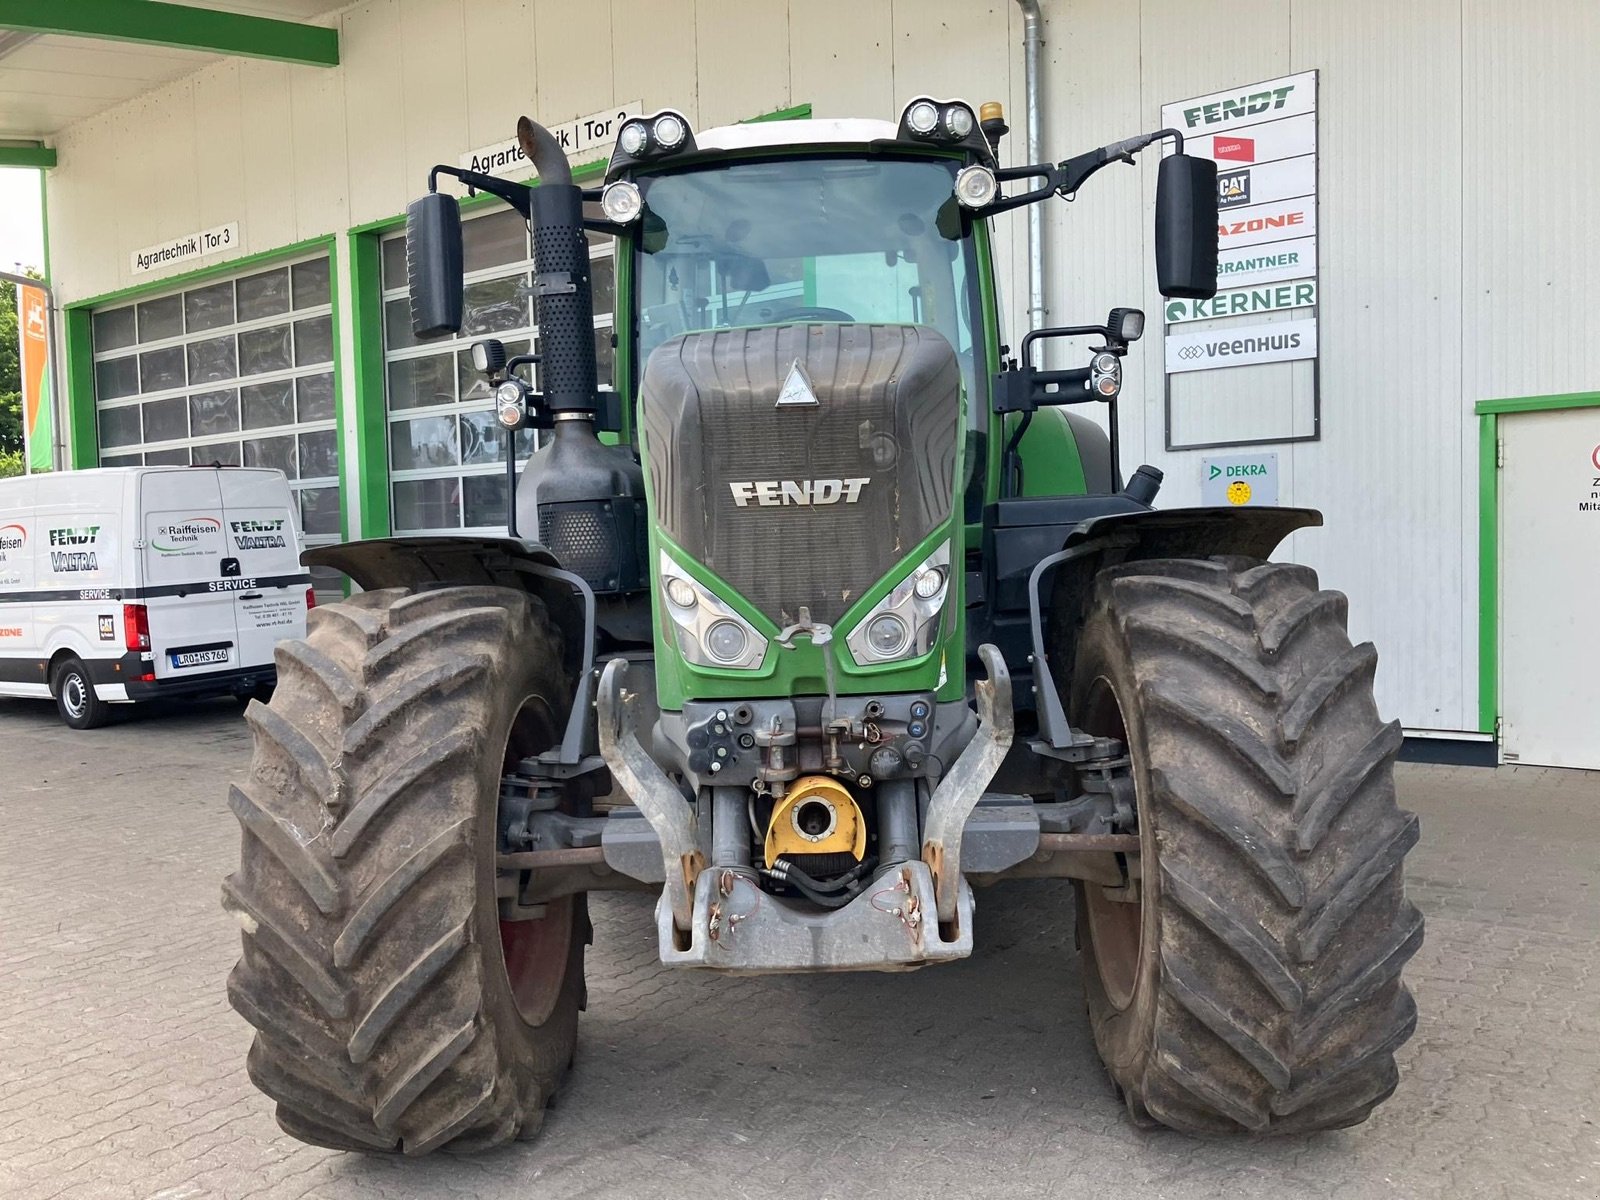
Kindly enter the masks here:
<path id="1" fill-rule="evenodd" d="M 589 933 L 550 906 L 554 1002 L 530 1022 L 494 894 L 502 754 L 571 702 L 539 600 L 499 587 L 362 592 L 280 643 L 246 712 L 243 830 L 222 885 L 243 926 L 227 981 L 278 1125 L 344 1150 L 426 1154 L 526 1136 L 571 1062 Z M 525 701 L 533 701 L 525 706 Z M 526 738 L 542 746 L 525 746 Z"/>

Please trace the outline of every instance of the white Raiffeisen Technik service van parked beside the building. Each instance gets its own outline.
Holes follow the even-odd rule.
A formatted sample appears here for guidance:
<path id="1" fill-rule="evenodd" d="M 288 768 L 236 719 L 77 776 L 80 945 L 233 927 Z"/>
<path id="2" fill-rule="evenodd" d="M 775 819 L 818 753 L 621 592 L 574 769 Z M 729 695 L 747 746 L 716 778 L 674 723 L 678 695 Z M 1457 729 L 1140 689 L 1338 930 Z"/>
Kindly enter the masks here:
<path id="1" fill-rule="evenodd" d="M 0 696 L 248 696 L 315 605 L 282 470 L 112 467 L 0 480 Z"/>

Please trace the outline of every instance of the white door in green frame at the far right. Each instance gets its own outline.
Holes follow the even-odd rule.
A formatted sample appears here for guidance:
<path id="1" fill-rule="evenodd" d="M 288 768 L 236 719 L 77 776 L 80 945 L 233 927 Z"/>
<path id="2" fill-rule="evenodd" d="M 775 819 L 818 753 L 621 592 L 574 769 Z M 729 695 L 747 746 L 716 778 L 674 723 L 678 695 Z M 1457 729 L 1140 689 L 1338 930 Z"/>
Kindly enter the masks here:
<path id="1" fill-rule="evenodd" d="M 1499 430 L 1502 754 L 1600 770 L 1600 408 Z"/>

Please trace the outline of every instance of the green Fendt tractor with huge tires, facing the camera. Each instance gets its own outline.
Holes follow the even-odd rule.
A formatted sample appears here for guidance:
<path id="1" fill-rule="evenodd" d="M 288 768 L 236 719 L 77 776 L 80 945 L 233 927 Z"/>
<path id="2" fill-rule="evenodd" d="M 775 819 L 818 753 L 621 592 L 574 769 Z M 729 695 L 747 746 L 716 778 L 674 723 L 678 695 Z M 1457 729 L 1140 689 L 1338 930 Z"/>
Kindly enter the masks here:
<path id="1" fill-rule="evenodd" d="M 520 477 L 507 454 L 507 536 L 306 555 L 362 590 L 250 709 L 224 885 L 229 997 L 286 1131 L 424 1154 L 538 1130 L 587 894 L 622 888 L 659 894 L 667 966 L 883 971 L 971 954 L 978 886 L 1070 878 L 1134 1122 L 1325 1130 L 1394 1090 L 1418 826 L 1373 646 L 1269 562 L 1318 514 L 1123 482 L 1141 312 L 1000 344 L 990 218 L 1170 142 L 1160 290 L 1210 296 L 1216 168 L 1173 130 L 1002 168 L 1003 133 L 931 98 L 707 131 L 664 110 L 582 190 L 523 118 L 538 186 L 434 170 L 414 331 L 461 330 L 454 176 L 531 227 L 539 352 L 472 355 L 507 448 L 541 445 Z M 614 392 L 590 235 L 616 238 Z M 1058 338 L 1093 344 L 1046 370 Z"/>

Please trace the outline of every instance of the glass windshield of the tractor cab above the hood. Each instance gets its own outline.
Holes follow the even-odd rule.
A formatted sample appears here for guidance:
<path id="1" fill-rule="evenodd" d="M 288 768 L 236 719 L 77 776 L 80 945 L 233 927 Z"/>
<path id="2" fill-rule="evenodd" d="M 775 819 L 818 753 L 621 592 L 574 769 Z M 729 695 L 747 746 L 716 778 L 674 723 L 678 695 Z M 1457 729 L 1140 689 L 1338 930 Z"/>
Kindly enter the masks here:
<path id="1" fill-rule="evenodd" d="M 638 179 L 638 362 L 680 333 L 926 325 L 974 394 L 971 238 L 954 160 L 786 158 Z"/>

